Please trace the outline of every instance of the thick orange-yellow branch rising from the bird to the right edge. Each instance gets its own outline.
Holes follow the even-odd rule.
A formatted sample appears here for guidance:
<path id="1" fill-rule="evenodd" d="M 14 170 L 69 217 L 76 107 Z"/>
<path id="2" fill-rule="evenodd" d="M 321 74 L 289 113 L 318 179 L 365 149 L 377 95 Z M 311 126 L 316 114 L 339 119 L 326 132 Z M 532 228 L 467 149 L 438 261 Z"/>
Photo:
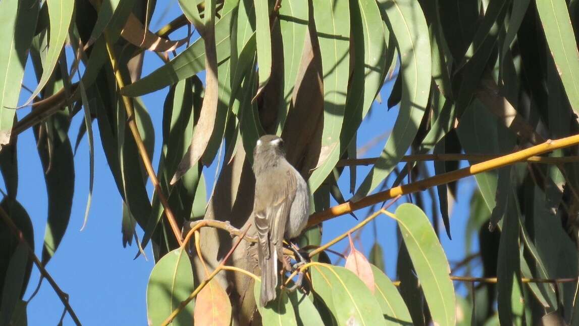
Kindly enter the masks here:
<path id="1" fill-rule="evenodd" d="M 442 173 L 440 175 L 435 175 L 431 178 L 426 178 L 417 182 L 412 182 L 409 184 L 404 184 L 402 186 L 393 187 L 386 191 L 380 191 L 373 195 L 362 198 L 357 202 L 345 202 L 344 204 L 336 205 L 325 211 L 314 213 L 310 216 L 306 227 L 312 227 L 314 225 L 320 224 L 325 220 L 335 218 L 336 216 L 344 215 L 368 207 L 370 205 L 376 204 L 378 202 L 394 198 L 398 195 L 405 195 L 410 193 L 415 193 L 416 191 L 422 191 L 428 187 L 439 186 L 441 184 L 453 182 L 459 179 L 466 178 L 467 176 L 476 175 L 481 172 L 490 171 L 493 169 L 501 168 L 506 165 L 514 164 L 527 158 L 548 153 L 550 151 L 557 150 L 559 148 L 574 146 L 579 144 L 579 135 L 573 135 L 565 137 L 558 140 L 547 140 L 542 144 L 538 144 L 533 147 L 526 148 L 524 150 L 516 151 L 515 153 L 503 155 L 501 157 L 493 158 L 492 160 L 473 164 L 467 168 L 459 169 L 456 171 Z"/>

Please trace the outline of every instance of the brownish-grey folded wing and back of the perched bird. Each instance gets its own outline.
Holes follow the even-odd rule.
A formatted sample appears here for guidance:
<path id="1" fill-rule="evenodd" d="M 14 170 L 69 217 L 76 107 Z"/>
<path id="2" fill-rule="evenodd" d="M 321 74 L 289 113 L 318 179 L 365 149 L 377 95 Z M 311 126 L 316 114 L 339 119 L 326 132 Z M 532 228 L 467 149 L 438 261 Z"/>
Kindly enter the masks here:
<path id="1" fill-rule="evenodd" d="M 263 207 L 255 207 L 255 227 L 258 232 L 259 249 L 264 259 L 270 255 L 269 242 L 276 248 L 278 259 L 283 258 L 281 245 L 285 224 L 297 188 L 297 180 L 292 171 L 288 169 L 285 173 L 287 173 L 285 178 L 272 175 L 272 178 L 266 181 L 268 186 L 256 185 L 255 202 L 261 203 Z"/>

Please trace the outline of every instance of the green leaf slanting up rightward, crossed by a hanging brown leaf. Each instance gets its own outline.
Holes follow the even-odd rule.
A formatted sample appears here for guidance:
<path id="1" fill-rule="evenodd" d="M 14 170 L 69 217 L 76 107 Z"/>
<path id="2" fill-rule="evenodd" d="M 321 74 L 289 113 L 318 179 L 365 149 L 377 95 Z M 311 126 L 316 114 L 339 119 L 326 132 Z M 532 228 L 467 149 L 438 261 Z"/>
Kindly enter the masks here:
<path id="1" fill-rule="evenodd" d="M 217 62 L 227 59 L 230 54 L 230 27 L 233 10 L 222 13 L 221 19 L 215 23 L 215 45 L 217 50 Z M 171 61 L 157 68 L 151 74 L 139 79 L 133 84 L 121 89 L 124 96 L 140 96 L 152 93 L 168 85 L 192 77 L 205 70 L 205 42 L 202 38 L 193 42 L 189 48 L 179 53 Z"/>

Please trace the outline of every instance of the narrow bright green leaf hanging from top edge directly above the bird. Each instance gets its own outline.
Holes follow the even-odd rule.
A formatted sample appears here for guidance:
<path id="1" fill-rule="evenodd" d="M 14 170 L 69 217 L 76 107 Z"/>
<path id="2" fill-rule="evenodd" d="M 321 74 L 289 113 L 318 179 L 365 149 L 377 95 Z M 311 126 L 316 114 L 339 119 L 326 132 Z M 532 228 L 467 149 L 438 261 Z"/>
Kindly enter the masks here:
<path id="1" fill-rule="evenodd" d="M 258 94 L 269 81 L 272 74 L 272 35 L 269 27 L 269 6 L 267 0 L 254 0 L 255 34 L 257 43 L 257 62 L 259 66 Z"/>

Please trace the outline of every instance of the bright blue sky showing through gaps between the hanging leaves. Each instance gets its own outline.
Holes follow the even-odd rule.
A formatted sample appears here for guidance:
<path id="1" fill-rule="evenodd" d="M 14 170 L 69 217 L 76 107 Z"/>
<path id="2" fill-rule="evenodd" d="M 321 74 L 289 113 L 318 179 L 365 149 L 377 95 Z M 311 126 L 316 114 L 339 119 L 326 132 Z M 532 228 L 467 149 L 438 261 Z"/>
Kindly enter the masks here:
<path id="1" fill-rule="evenodd" d="M 167 23 L 180 13 L 177 1 L 157 2 L 156 14 L 153 16 L 153 30 Z M 159 16 L 167 9 L 166 16 L 159 23 Z M 181 35 L 175 35 L 175 38 Z M 68 56 L 71 57 L 71 56 Z M 145 57 L 144 75 L 148 74 L 160 65 L 160 60 L 153 55 Z M 31 65 L 27 66 L 24 84 L 34 88 L 35 79 L 31 72 Z M 390 93 L 393 82 L 390 82 L 381 91 L 382 104 L 375 103 L 371 115 L 362 122 L 358 132 L 358 147 L 364 146 L 370 140 L 388 131 L 394 124 L 398 113 L 398 107 L 387 110 L 386 99 Z M 159 138 L 162 121 L 162 107 L 167 88 L 159 90 L 152 95 L 143 97 L 146 107 L 151 114 L 157 139 L 155 143 L 155 155 L 153 166 L 157 166 L 161 140 Z M 28 93 L 21 93 L 21 99 Z M 25 108 L 18 111 L 19 118 L 29 113 Z M 73 120 L 69 132 L 71 142 L 74 143 L 79 129 L 83 123 L 82 114 L 78 114 Z M 96 126 L 96 125 L 95 125 Z M 86 137 L 80 143 L 75 156 L 75 196 L 72 207 L 71 220 L 67 233 L 54 255 L 47 265 L 47 270 L 56 280 L 57 284 L 70 296 L 71 306 L 85 325 L 121 324 L 142 325 L 146 324 L 146 284 L 153 267 L 151 247 L 147 247 L 146 253 L 149 260 L 143 256 L 134 260 L 137 248 L 122 247 L 120 233 L 122 200 L 116 189 L 111 172 L 108 168 L 105 155 L 102 151 L 98 128 L 93 128 L 95 133 L 95 170 L 93 202 L 90 208 L 89 221 L 85 230 L 80 231 L 86 208 L 86 200 L 89 189 L 89 153 Z M 370 148 L 364 157 L 375 157 L 380 154 L 386 140 L 382 140 L 376 146 Z M 43 177 L 42 166 L 35 148 L 35 139 L 32 131 L 28 130 L 19 136 L 19 195 L 18 200 L 27 209 L 35 231 L 36 255 L 42 253 L 42 242 L 46 226 L 47 198 Z M 433 166 L 428 164 L 430 173 Z M 358 167 L 358 184 L 369 171 L 369 167 Z M 208 186 L 214 180 L 215 166 L 204 171 Z M 390 180 L 391 182 L 391 180 Z M 340 189 L 346 198 L 349 198 L 349 171 L 339 181 Z M 464 229 L 468 220 L 470 194 L 475 187 L 473 178 L 459 183 L 457 193 L 459 201 L 455 204 L 451 215 L 451 231 L 453 240 L 450 241 L 441 235 L 442 245 L 450 262 L 459 260 L 464 256 Z M 2 185 L 3 188 L 3 185 Z M 151 194 L 149 184 L 149 194 Z M 210 189 L 208 189 L 210 193 Z M 398 204 L 406 201 L 402 198 Z M 332 205 L 335 205 L 332 202 Z M 427 207 L 430 205 L 427 202 Z M 394 211 L 395 207 L 391 208 Z M 427 210 L 427 215 L 432 213 Z M 436 212 L 438 213 L 438 212 Z M 364 218 L 368 209 L 357 212 L 359 218 Z M 341 216 L 324 224 L 323 242 L 328 241 L 338 234 L 343 233 L 356 225 L 357 221 L 349 215 Z M 378 241 L 384 249 L 387 274 L 395 279 L 395 261 L 398 253 L 396 237 L 396 224 L 387 216 L 379 216 L 376 219 Z M 439 228 L 444 232 L 444 226 Z M 358 247 L 364 253 L 368 253 L 374 238 L 372 226 L 364 229 L 361 237 L 361 246 Z M 140 235 L 142 231 L 139 230 Z M 339 242 L 333 249 L 342 252 L 347 247 L 347 240 Z M 478 246 L 475 245 L 474 248 Z M 332 259 L 336 256 L 331 255 Z M 343 264 L 343 262 L 342 262 Z M 33 269 L 27 293 L 24 299 L 30 298 L 39 279 L 38 270 Z M 464 287 L 462 287 L 464 289 Z M 30 325 L 56 324 L 63 312 L 63 305 L 47 282 L 36 297 L 28 305 L 28 321 Z M 70 317 L 65 317 L 64 324 L 72 324 Z"/>

